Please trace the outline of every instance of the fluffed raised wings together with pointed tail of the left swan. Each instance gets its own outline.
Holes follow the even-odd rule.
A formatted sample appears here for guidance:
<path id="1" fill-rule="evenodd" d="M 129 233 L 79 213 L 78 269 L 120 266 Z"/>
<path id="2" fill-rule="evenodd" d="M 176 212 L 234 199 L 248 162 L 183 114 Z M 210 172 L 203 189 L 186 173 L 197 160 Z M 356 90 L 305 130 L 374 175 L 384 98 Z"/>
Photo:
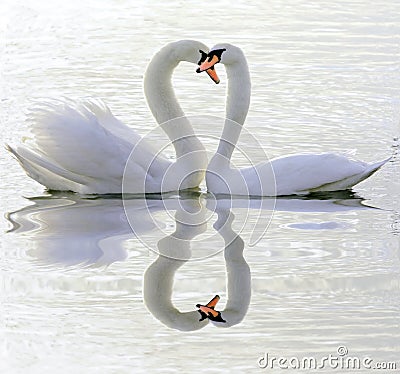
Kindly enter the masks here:
<path id="1" fill-rule="evenodd" d="M 72 106 L 50 103 L 35 108 L 30 119 L 34 144 L 11 148 L 33 179 L 51 189 L 82 193 L 120 193 L 126 161 L 135 146 L 136 157 L 129 163 L 130 184 L 143 186 L 148 159 L 154 153 L 141 137 L 116 119 L 107 107 L 93 103 Z M 163 170 L 164 161 L 155 158 L 153 170 Z M 77 185 L 81 185 L 77 187 Z M 131 185 L 135 192 L 136 186 Z"/>

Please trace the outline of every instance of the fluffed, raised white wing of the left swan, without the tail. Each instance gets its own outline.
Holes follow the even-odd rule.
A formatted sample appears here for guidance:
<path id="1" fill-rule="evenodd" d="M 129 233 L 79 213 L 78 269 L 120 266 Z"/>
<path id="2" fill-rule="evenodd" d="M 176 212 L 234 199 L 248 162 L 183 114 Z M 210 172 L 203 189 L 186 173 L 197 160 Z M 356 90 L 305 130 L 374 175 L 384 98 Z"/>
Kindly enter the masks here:
<path id="1" fill-rule="evenodd" d="M 76 174 L 120 176 L 131 145 L 102 126 L 96 114 L 66 103 L 36 109 L 32 133 L 38 150 Z"/>

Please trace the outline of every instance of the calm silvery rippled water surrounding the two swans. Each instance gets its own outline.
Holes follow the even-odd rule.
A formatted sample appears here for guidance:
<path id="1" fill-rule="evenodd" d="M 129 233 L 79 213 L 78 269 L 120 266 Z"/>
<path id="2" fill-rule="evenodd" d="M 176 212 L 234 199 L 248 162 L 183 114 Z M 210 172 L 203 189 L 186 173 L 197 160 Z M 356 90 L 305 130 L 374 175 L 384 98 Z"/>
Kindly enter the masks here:
<path id="1" fill-rule="evenodd" d="M 1 143 L 29 136 L 26 112 L 42 98 L 103 99 L 146 134 L 146 65 L 193 38 L 243 48 L 246 129 L 268 156 L 394 158 L 353 193 L 278 199 L 274 211 L 271 199 L 205 193 L 50 195 L 1 152 L 2 373 L 262 372 L 265 353 L 321 358 L 340 346 L 400 370 L 398 1 L 8 3 Z M 223 115 L 218 72 L 215 86 L 179 66 L 187 114 Z M 197 131 L 213 152 L 221 128 Z M 195 305 L 215 294 L 223 328 L 198 321 Z"/>

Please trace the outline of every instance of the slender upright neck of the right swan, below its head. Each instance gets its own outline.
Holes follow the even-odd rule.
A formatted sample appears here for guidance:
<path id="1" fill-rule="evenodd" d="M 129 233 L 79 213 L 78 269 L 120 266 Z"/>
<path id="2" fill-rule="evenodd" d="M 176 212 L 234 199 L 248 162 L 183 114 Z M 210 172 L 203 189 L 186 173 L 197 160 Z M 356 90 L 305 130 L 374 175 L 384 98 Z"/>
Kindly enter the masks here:
<path id="1" fill-rule="evenodd" d="M 243 52 L 237 50 L 233 63 L 226 64 L 228 95 L 226 118 L 217 153 L 230 159 L 238 142 L 250 105 L 250 73 Z"/>

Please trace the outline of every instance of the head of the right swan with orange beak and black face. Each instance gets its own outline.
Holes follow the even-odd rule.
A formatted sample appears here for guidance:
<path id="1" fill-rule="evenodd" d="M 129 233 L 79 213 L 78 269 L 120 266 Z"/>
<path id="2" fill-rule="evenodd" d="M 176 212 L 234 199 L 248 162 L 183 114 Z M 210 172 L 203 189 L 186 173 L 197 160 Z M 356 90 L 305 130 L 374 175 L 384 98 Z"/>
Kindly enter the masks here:
<path id="1" fill-rule="evenodd" d="M 216 64 L 233 65 L 244 58 L 242 50 L 229 43 L 216 44 L 211 48 L 209 53 L 206 54 L 203 51 L 200 51 L 200 53 L 199 67 L 196 72 L 201 73 L 206 71 L 210 78 L 217 84 L 219 83 L 219 78 L 215 72 Z"/>

